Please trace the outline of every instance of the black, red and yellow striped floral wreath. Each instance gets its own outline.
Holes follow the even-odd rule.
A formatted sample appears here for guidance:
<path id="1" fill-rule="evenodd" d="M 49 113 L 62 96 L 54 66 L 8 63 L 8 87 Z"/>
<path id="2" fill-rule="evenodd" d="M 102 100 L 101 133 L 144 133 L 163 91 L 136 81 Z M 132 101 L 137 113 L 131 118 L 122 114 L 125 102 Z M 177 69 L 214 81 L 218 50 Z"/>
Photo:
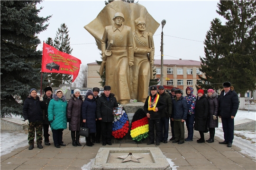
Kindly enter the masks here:
<path id="1" fill-rule="evenodd" d="M 143 109 L 138 109 L 132 119 L 130 135 L 135 142 L 143 141 L 148 136 L 148 119 Z"/>

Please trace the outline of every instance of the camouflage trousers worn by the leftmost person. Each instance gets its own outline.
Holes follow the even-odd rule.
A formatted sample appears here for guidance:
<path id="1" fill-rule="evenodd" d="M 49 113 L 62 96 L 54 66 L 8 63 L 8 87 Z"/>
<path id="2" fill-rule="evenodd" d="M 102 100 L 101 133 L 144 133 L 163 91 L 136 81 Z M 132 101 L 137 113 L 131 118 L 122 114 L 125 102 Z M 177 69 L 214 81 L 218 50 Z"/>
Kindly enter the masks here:
<path id="1" fill-rule="evenodd" d="M 29 122 L 28 126 L 28 144 L 35 143 L 35 129 L 37 133 L 37 144 L 42 144 L 43 140 L 43 121 Z"/>

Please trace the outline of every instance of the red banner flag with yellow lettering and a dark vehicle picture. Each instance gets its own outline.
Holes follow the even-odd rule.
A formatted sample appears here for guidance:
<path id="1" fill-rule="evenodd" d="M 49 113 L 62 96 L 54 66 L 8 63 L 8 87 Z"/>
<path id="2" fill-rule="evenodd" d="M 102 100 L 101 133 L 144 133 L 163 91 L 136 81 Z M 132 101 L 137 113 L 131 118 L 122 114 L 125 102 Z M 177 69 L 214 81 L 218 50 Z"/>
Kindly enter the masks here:
<path id="1" fill-rule="evenodd" d="M 74 82 L 79 73 L 81 63 L 80 59 L 58 51 L 44 42 L 42 72 L 70 74 L 73 75 L 72 82 Z"/>

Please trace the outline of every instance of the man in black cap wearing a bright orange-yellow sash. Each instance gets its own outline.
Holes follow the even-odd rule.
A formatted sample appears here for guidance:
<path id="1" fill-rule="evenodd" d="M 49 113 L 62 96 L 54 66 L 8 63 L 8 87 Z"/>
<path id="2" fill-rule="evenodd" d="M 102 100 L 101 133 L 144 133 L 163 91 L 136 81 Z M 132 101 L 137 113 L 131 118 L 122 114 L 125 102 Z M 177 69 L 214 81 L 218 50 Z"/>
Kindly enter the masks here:
<path id="1" fill-rule="evenodd" d="M 143 107 L 148 119 L 149 141 L 147 144 L 159 145 L 162 140 L 161 133 L 163 133 L 160 128 L 160 119 L 162 112 L 165 112 L 166 104 L 163 98 L 157 94 L 156 85 L 150 86 L 149 89 L 151 94 L 147 96 Z"/>

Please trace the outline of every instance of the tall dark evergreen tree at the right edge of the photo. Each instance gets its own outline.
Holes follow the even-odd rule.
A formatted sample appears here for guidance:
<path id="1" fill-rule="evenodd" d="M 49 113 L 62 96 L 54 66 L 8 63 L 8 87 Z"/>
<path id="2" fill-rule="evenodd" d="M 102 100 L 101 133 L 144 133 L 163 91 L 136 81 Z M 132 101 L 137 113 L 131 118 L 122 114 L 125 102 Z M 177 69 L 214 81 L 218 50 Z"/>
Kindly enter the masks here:
<path id="1" fill-rule="evenodd" d="M 256 1 L 221 0 L 218 8 L 217 13 L 227 22 L 214 29 L 213 33 L 219 35 L 217 51 L 213 51 L 216 58 L 211 59 L 205 53 L 206 56 L 201 59 L 206 59 L 202 62 L 204 67 L 201 71 L 207 73 L 210 83 L 221 85 L 230 81 L 236 92 L 244 97 L 247 90 L 255 90 L 256 85 Z M 205 47 L 211 51 L 211 42 L 207 43 L 205 41 Z M 218 69 L 215 66 L 210 73 L 213 62 L 218 64 Z"/>

